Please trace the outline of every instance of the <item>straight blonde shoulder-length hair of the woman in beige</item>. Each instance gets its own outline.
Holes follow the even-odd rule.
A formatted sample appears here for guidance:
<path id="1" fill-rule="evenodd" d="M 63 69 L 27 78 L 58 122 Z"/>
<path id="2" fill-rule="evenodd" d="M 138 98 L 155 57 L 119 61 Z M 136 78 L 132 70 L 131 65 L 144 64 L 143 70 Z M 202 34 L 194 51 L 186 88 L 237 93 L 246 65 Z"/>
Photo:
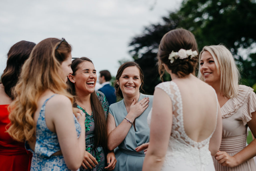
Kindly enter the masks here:
<path id="1" fill-rule="evenodd" d="M 236 97 L 240 73 L 229 49 L 223 45 L 205 46 L 200 52 L 199 63 L 204 51 L 208 51 L 216 63 L 216 69 L 220 73 L 220 92 L 222 95 L 227 98 Z M 204 81 L 201 72 L 198 72 L 197 78 Z"/>

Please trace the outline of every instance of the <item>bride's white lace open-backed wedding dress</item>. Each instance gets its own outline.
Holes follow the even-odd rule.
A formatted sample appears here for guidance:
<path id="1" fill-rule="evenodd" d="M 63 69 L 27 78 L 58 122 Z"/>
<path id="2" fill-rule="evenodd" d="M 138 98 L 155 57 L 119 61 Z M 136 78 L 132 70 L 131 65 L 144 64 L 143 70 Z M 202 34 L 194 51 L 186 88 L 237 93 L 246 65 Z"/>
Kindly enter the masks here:
<path id="1" fill-rule="evenodd" d="M 168 81 L 158 84 L 155 88 L 164 90 L 171 98 L 173 105 L 172 131 L 165 155 L 165 161 L 161 170 L 215 171 L 211 153 L 209 151 L 209 141 L 214 131 L 208 138 L 201 142 L 193 141 L 187 136 L 184 130 L 182 97 L 177 84 L 173 81 Z M 150 124 L 151 114 L 152 109 L 147 117 L 148 124 Z"/>

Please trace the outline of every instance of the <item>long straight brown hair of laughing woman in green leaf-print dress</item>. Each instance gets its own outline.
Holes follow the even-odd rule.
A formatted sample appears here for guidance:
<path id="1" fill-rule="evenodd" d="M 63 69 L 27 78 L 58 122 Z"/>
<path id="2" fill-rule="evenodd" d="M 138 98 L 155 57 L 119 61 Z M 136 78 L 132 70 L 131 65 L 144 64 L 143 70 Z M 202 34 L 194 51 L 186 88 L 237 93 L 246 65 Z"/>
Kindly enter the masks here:
<path id="1" fill-rule="evenodd" d="M 76 58 L 72 60 L 71 69 L 73 71 L 73 74 L 72 74 L 73 76 L 76 75 L 76 71 L 79 69 L 79 64 L 84 61 L 89 61 L 92 63 L 92 61 L 86 57 Z M 76 99 L 75 85 L 69 79 L 68 79 L 68 91 L 72 95 L 74 95 Z M 95 123 L 95 129 L 94 129 L 95 139 L 94 139 L 93 148 L 96 148 L 98 145 L 101 145 L 102 147 L 106 147 L 107 146 L 107 125 L 106 125 L 105 113 L 96 95 L 95 90 L 90 95 L 90 101 L 91 101 L 93 119 Z M 76 107 L 75 102 L 73 103 L 73 107 Z"/>

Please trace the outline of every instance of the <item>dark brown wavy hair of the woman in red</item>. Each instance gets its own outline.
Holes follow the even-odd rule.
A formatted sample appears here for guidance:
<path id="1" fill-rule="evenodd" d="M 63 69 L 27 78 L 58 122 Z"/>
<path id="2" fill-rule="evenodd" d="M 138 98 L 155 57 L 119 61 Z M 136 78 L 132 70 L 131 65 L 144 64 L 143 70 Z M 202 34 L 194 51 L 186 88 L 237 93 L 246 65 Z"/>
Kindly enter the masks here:
<path id="1" fill-rule="evenodd" d="M 32 49 L 36 44 L 30 41 L 19 41 L 15 43 L 7 54 L 6 68 L 1 76 L 1 82 L 5 93 L 14 100 L 12 89 L 18 82 L 22 65 L 28 59 Z"/>

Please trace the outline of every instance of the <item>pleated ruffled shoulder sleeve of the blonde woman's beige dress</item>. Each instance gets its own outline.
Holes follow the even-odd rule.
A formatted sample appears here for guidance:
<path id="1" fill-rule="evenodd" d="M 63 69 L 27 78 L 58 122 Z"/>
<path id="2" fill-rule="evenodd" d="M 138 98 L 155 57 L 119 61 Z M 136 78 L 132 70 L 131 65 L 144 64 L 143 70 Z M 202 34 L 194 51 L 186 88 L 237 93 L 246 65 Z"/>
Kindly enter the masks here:
<path id="1" fill-rule="evenodd" d="M 251 113 L 256 111 L 256 94 L 253 89 L 248 86 L 239 85 L 238 95 L 229 99 L 222 107 L 222 117 L 226 118 L 232 116 L 243 106 L 242 121 L 246 125 L 251 120 Z"/>

